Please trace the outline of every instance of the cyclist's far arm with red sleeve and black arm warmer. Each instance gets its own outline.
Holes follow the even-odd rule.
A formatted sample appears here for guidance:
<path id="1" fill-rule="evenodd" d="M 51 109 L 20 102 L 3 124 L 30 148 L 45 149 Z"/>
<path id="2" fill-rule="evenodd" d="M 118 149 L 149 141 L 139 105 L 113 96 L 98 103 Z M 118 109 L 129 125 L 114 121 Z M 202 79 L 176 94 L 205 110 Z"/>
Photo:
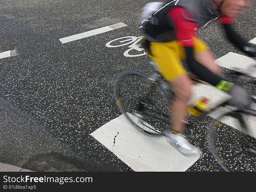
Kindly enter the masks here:
<path id="1" fill-rule="evenodd" d="M 251 57 L 256 57 L 256 49 L 252 47 L 241 35 L 232 27 L 234 19 L 230 17 L 219 17 L 218 22 L 223 24 L 227 38 L 241 51 Z"/>

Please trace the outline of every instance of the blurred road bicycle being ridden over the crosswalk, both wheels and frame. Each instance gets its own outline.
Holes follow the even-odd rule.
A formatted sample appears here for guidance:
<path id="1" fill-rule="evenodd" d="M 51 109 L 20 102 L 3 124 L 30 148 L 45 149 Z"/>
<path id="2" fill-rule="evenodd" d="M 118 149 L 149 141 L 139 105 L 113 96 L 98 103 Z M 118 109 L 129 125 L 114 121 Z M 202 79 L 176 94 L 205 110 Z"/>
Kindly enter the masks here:
<path id="1" fill-rule="evenodd" d="M 157 70 L 154 63 L 151 62 L 151 64 Z M 247 74 L 244 71 L 232 72 L 229 76 L 234 77 L 237 80 L 248 80 L 248 78 L 246 78 Z M 190 76 L 190 79 L 197 83 L 208 85 L 208 83 L 197 77 Z M 249 82 L 256 83 L 255 81 L 248 81 L 248 83 Z M 130 87 L 130 85 L 132 86 Z M 133 91 L 135 91 L 135 93 L 129 95 L 129 93 L 132 93 Z M 169 108 L 171 106 L 172 98 L 174 97 L 174 91 L 163 79 L 158 70 L 157 73 L 152 75 L 137 70 L 129 70 L 120 74 L 115 81 L 114 94 L 121 113 L 125 115 L 128 122 L 130 122 L 136 129 L 149 136 L 166 136 L 165 130 L 171 128 L 172 117 Z M 252 95 L 252 100 L 256 103 L 256 96 Z M 198 122 L 211 111 L 214 111 L 221 106 L 228 106 L 228 102 L 225 101 L 208 111 L 205 111 L 200 117 L 194 116 L 189 118 L 189 121 L 183 122 L 185 122 L 188 127 L 193 126 L 195 122 Z M 250 146 L 248 143 L 245 145 L 243 140 L 238 138 L 239 143 L 237 143 L 237 145 L 243 142 L 242 144 L 245 145 L 243 146 L 243 152 L 249 152 L 256 160 L 256 153 L 254 150 L 254 147 L 256 147 L 256 139 L 248 135 L 248 127 L 242 118 L 243 115 L 256 117 L 256 110 L 250 108 L 231 110 L 220 115 L 216 119 L 213 118 L 209 123 L 207 129 L 209 150 L 224 171 L 234 171 L 236 169 L 234 169 L 232 163 L 228 161 L 229 158 L 224 158 L 224 156 L 226 157 L 227 155 L 227 151 L 231 153 L 233 151 L 230 149 L 223 149 L 223 143 L 218 143 L 219 141 L 216 138 L 218 137 L 217 131 L 221 131 L 221 125 L 222 127 L 224 125 L 228 126 L 224 123 L 220 123 L 220 120 L 223 119 L 223 117 L 230 116 L 238 119 L 243 131 L 239 132 L 239 134 L 241 136 L 246 135 L 251 139 L 251 142 Z"/>

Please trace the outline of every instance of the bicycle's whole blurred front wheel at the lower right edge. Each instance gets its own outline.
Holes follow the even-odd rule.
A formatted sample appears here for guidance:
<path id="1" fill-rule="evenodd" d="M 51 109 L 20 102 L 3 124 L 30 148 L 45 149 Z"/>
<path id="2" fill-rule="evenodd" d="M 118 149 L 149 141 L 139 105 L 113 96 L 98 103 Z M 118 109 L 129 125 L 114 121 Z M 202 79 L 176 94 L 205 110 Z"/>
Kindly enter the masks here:
<path id="1" fill-rule="evenodd" d="M 256 171 L 256 156 L 251 151 L 256 146 L 256 111 L 225 112 L 217 119 L 209 123 L 207 139 L 218 164 L 224 171 Z"/>

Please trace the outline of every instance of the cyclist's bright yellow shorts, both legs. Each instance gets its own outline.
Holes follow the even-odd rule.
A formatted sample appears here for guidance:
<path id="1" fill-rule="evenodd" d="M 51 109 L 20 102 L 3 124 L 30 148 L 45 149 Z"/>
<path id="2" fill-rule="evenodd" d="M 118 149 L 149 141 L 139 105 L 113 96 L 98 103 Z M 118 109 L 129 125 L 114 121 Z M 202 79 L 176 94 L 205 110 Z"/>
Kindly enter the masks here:
<path id="1" fill-rule="evenodd" d="M 207 45 L 202 40 L 194 37 L 195 54 L 207 49 Z M 179 61 L 186 61 L 185 49 L 180 42 L 150 42 L 150 51 L 152 54 L 148 54 L 148 56 L 157 65 L 159 72 L 167 81 L 171 81 L 181 74 L 186 74 L 186 70 Z"/>

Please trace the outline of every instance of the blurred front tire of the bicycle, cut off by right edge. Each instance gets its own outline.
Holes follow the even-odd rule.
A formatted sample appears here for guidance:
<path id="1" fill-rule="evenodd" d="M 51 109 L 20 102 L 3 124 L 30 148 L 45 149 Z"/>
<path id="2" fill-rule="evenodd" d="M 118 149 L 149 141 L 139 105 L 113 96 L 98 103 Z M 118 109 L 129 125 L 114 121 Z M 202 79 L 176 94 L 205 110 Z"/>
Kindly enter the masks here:
<path id="1" fill-rule="evenodd" d="M 239 110 L 234 110 L 234 111 L 229 111 L 227 113 L 223 113 L 221 115 L 219 115 L 216 119 L 213 119 L 209 122 L 208 125 L 208 130 L 207 130 L 207 141 L 208 141 L 208 147 L 209 150 L 212 154 L 212 156 L 214 157 L 214 159 L 218 162 L 219 166 L 221 166 L 221 168 L 226 171 L 226 172 L 230 172 L 232 171 L 223 161 L 223 159 L 221 158 L 221 156 L 218 154 L 217 150 L 216 150 L 216 146 L 214 143 L 214 124 L 216 122 L 219 122 L 218 119 L 221 119 L 223 116 L 230 116 L 231 113 L 243 113 L 246 115 L 252 115 L 254 117 L 256 117 L 256 110 L 254 109 L 239 109 Z M 239 122 L 240 124 L 240 122 Z"/>

